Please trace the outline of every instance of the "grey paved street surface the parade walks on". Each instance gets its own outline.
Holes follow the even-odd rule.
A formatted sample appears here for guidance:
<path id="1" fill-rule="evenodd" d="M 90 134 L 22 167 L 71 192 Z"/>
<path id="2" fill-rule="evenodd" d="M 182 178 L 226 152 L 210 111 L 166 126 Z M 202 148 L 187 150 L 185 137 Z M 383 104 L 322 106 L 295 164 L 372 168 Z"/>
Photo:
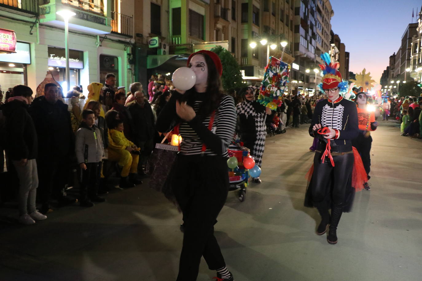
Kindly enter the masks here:
<path id="1" fill-rule="evenodd" d="M 262 184 L 246 201 L 230 192 L 216 237 L 236 281 L 421 280 L 422 142 L 400 136 L 395 121 L 372 134 L 371 190 L 357 193 L 341 218 L 336 245 L 317 236 L 316 209 L 303 207 L 314 153 L 307 125 L 266 142 Z M 181 215 L 147 180 L 22 226 L 1 210 L 0 280 L 176 279 Z M 16 211 L 17 212 L 17 211 Z M 215 272 L 202 261 L 198 281 Z"/>

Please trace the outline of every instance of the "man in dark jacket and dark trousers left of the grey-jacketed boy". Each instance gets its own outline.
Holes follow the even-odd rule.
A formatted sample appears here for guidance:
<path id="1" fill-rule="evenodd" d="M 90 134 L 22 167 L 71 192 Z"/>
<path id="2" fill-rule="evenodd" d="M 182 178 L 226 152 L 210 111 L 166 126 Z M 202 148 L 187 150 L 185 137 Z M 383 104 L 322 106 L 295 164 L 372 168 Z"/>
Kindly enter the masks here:
<path id="1" fill-rule="evenodd" d="M 38 134 L 39 198 L 44 214 L 50 210 L 51 195 L 57 198 L 59 206 L 76 202 L 63 192 L 70 156 L 74 154 L 74 135 L 68 105 L 58 99 L 58 93 L 55 84 L 46 84 L 45 96 L 36 98 L 29 109 Z"/>

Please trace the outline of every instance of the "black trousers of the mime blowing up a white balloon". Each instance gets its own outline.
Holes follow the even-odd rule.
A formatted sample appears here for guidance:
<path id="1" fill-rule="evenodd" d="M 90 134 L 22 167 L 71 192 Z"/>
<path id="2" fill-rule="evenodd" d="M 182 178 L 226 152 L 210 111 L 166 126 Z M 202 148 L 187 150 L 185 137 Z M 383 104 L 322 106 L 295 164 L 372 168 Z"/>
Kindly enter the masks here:
<path id="1" fill-rule="evenodd" d="M 171 185 L 184 222 L 177 280 L 195 281 L 202 256 L 211 270 L 225 266 L 214 237 L 214 225 L 227 199 L 227 160 L 217 156 L 179 155 L 173 167 Z"/>

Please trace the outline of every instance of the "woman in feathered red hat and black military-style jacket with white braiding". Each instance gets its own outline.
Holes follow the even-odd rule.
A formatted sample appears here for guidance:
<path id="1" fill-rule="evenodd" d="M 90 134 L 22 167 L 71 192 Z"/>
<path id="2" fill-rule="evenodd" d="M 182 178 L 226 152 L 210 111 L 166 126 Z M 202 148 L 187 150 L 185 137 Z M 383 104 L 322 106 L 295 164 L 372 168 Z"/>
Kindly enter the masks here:
<path id="1" fill-rule="evenodd" d="M 317 234 L 324 234 L 329 226 L 327 241 L 336 244 L 341 214 L 350 210 L 354 197 L 352 170 L 356 159 L 352 139 L 358 135 L 358 122 L 356 105 L 340 95 L 347 91 L 347 82 L 338 72 L 339 63 L 330 62 L 327 53 L 321 58 L 325 64 L 319 65 L 324 74 L 319 88 L 328 99 L 317 103 L 309 127 L 309 134 L 318 137 L 318 144 L 305 206 L 315 206 L 321 215 Z"/>

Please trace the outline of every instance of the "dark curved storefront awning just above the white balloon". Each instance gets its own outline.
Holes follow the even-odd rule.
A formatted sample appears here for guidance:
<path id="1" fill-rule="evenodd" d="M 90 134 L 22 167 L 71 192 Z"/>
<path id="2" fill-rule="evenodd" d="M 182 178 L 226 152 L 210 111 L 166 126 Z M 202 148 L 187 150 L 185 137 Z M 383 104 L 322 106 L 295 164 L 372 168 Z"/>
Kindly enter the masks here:
<path id="1" fill-rule="evenodd" d="M 146 68 L 157 73 L 174 72 L 187 64 L 188 55 L 149 55 L 146 58 Z"/>

